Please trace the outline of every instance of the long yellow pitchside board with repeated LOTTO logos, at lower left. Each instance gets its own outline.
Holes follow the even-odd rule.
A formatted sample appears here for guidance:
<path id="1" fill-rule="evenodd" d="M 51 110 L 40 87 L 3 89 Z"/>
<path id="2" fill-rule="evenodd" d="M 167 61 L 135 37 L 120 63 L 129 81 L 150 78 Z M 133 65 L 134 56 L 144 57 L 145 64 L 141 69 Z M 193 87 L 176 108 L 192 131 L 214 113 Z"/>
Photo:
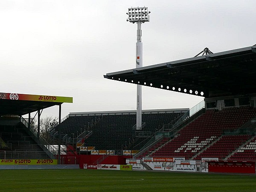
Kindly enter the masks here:
<path id="1" fill-rule="evenodd" d="M 1 159 L 0 165 L 57 165 L 52 159 Z"/>

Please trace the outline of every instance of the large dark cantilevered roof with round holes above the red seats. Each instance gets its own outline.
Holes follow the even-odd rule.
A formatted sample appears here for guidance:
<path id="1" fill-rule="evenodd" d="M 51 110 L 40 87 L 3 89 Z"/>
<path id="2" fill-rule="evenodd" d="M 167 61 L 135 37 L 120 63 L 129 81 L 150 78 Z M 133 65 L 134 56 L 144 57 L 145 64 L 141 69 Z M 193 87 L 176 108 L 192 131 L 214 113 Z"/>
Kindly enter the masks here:
<path id="1" fill-rule="evenodd" d="M 256 45 L 104 75 L 206 98 L 256 93 Z"/>

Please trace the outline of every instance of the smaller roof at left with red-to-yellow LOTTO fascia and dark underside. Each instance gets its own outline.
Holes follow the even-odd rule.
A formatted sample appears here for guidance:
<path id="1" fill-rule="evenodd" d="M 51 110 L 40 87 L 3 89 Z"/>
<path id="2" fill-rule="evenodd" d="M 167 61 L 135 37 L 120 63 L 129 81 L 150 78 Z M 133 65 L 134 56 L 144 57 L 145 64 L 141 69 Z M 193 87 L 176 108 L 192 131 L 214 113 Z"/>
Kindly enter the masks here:
<path id="1" fill-rule="evenodd" d="M 0 93 L 0 116 L 25 115 L 62 103 L 72 103 L 72 97 Z"/>

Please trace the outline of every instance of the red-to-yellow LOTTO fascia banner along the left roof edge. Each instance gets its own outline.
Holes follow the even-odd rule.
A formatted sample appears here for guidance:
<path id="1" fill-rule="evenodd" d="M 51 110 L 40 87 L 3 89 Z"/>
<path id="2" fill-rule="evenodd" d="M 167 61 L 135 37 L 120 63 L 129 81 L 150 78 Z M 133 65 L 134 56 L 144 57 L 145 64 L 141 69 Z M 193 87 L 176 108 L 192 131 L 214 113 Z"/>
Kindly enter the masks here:
<path id="1" fill-rule="evenodd" d="M 72 97 L 46 96 L 46 95 L 27 95 L 27 94 L 18 94 L 18 93 L 0 93 L 0 99 L 73 103 L 73 98 Z"/>

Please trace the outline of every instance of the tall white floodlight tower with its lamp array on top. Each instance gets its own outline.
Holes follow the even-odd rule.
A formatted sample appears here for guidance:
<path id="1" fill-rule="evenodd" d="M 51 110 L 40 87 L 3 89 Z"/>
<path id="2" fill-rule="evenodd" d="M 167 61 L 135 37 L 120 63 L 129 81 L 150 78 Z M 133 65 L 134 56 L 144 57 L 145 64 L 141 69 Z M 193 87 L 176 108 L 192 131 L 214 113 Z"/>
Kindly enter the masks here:
<path id="1" fill-rule="evenodd" d="M 137 43 L 136 43 L 136 68 L 142 67 L 142 42 L 141 42 L 141 23 L 149 21 L 149 13 L 147 7 L 129 8 L 127 21 L 137 23 Z M 137 84 L 137 120 L 136 129 L 141 130 L 141 114 L 142 114 L 142 99 L 141 85 Z"/>

